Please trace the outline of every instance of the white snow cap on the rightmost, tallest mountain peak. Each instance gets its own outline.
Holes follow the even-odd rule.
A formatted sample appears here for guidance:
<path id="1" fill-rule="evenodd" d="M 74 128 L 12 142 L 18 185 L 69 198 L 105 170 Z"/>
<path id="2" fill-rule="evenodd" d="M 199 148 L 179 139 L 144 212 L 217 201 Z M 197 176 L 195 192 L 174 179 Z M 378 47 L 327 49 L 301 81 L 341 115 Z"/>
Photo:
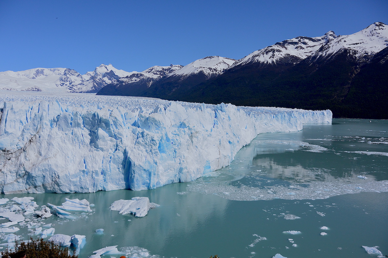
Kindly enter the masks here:
<path id="1" fill-rule="evenodd" d="M 388 46 L 388 25 L 375 22 L 367 28 L 350 35 L 338 36 L 329 44 L 323 45 L 314 58 L 333 55 L 348 48 L 357 58 L 374 55 Z"/>

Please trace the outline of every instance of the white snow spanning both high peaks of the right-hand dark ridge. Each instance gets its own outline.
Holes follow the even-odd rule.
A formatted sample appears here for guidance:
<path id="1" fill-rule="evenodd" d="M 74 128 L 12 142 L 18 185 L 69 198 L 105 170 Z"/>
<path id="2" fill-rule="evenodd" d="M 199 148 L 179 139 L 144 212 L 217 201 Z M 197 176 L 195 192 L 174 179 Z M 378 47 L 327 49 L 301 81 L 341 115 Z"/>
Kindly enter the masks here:
<path id="1" fill-rule="evenodd" d="M 333 31 L 329 31 L 320 37 L 300 36 L 284 40 L 250 53 L 231 67 L 251 62 L 263 64 L 292 63 L 310 56 L 312 58 L 330 57 L 343 49 L 350 49 L 350 52 L 357 58 L 363 58 L 364 55 L 378 53 L 386 46 L 388 46 L 388 25 L 375 22 L 351 35 L 337 36 Z"/>

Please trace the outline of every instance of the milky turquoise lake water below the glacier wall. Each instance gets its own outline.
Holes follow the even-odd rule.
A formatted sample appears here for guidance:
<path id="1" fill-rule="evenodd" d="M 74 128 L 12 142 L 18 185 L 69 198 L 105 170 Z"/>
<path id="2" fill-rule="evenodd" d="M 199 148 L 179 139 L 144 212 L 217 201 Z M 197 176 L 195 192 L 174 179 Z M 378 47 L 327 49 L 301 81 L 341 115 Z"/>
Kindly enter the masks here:
<path id="1" fill-rule="evenodd" d="M 385 256 L 388 121 L 333 119 L 306 124 L 299 132 L 260 134 L 230 166 L 194 182 L 144 191 L 0 198 L 24 196 L 38 205 L 61 205 L 65 198 L 94 203 L 92 212 L 78 213 L 76 220 L 53 215 L 32 221 L 52 223 L 55 234 L 86 235 L 80 258 L 113 245 L 128 257 L 371 257 L 362 246 L 379 246 Z M 135 196 L 160 207 L 142 218 L 109 210 L 114 201 Z M 18 227 L 15 234 L 28 239 L 31 230 Z M 104 233 L 96 234 L 100 228 Z M 292 230 L 300 233 L 287 233 Z"/>

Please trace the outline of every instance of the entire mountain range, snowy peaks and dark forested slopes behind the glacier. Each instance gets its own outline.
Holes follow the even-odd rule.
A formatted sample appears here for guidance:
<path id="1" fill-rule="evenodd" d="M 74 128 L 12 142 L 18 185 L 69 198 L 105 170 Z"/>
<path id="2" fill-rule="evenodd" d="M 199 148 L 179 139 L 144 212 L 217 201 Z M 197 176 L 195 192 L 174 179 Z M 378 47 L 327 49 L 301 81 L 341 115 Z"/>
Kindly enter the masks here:
<path id="1" fill-rule="evenodd" d="M 375 22 L 350 35 L 299 36 L 239 60 L 212 56 L 143 72 L 112 65 L 85 75 L 64 68 L 0 72 L 0 89 L 331 109 L 334 117 L 388 119 L 388 26 Z"/>

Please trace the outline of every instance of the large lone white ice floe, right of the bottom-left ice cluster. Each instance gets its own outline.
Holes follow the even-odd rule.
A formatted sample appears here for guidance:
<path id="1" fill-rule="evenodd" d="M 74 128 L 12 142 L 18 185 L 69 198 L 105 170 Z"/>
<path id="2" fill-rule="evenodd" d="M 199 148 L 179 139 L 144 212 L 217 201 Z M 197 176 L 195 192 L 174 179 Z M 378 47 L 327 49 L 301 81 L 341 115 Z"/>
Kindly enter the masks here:
<path id="1" fill-rule="evenodd" d="M 115 201 L 110 208 L 119 211 L 123 215 L 132 213 L 135 217 L 144 217 L 149 209 L 159 206 L 156 203 L 150 203 L 148 197 L 133 197 L 131 200 Z"/>

